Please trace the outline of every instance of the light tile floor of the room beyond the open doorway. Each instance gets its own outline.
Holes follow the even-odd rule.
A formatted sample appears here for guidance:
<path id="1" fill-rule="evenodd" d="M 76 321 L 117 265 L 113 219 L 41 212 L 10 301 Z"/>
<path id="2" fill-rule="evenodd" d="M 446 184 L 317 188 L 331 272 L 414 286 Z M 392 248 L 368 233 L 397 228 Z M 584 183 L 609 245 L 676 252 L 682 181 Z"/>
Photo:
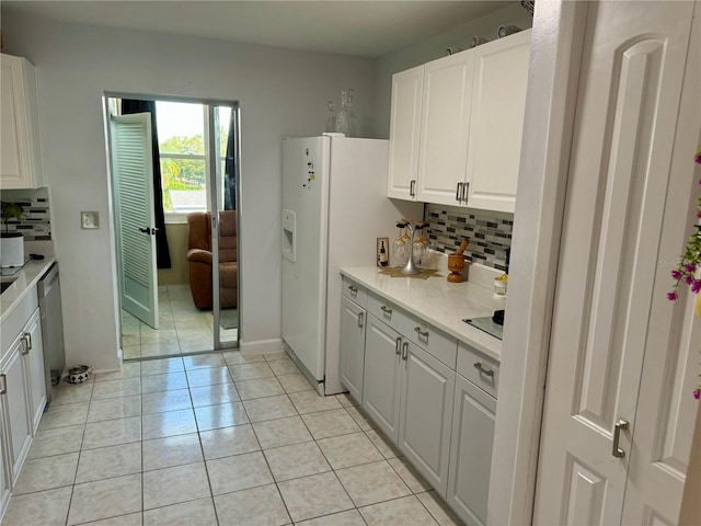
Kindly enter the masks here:
<path id="1" fill-rule="evenodd" d="M 214 347 L 211 311 L 195 307 L 188 285 L 159 287 L 158 297 L 158 330 L 122 311 L 124 359 L 179 356 Z M 238 329 L 222 328 L 219 338 L 221 342 L 235 342 Z"/>

